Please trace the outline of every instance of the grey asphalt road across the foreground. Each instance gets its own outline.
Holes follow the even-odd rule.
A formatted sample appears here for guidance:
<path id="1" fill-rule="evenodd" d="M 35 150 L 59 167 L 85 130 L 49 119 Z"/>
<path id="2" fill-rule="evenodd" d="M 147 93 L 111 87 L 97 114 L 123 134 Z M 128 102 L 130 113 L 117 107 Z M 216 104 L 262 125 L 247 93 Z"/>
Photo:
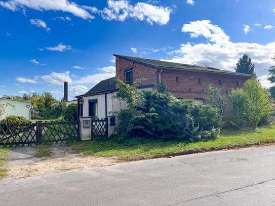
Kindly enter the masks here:
<path id="1" fill-rule="evenodd" d="M 0 205 L 275 205 L 275 146 L 1 180 Z"/>

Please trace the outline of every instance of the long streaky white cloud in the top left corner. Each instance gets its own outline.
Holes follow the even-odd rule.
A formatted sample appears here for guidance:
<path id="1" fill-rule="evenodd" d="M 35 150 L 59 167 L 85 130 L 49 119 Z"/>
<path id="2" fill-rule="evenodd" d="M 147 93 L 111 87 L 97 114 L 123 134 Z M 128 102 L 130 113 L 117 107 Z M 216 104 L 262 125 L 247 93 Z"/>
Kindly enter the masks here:
<path id="1" fill-rule="evenodd" d="M 0 1 L 0 6 L 12 11 L 25 10 L 25 8 L 37 11 L 62 11 L 73 14 L 83 19 L 94 19 L 87 10 L 68 0 L 9 0 L 7 2 Z"/>

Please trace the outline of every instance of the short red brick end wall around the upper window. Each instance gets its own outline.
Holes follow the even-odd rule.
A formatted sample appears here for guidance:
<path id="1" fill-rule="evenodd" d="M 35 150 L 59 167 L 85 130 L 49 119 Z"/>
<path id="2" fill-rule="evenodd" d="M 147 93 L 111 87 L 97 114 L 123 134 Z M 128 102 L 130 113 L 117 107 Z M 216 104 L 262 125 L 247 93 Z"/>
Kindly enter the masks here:
<path id="1" fill-rule="evenodd" d="M 127 69 L 133 69 L 134 81 L 145 78 L 143 81 L 144 84 L 158 84 L 157 69 L 116 57 L 115 77 L 124 81 L 124 71 Z"/>

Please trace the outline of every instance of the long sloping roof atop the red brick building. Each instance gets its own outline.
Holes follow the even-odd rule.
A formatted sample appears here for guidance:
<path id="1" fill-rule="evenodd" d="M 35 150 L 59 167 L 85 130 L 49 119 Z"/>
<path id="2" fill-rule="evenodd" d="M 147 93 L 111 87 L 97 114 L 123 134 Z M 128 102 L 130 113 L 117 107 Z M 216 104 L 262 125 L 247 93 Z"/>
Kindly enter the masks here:
<path id="1" fill-rule="evenodd" d="M 216 69 L 216 68 L 212 68 L 212 67 L 203 67 L 203 66 L 190 65 L 190 64 L 180 64 L 180 63 L 160 61 L 160 60 L 154 60 L 154 59 L 144 59 L 144 58 L 140 58 L 140 57 L 129 57 L 129 56 L 123 56 L 123 55 L 117 55 L 117 54 L 114 54 L 113 56 L 123 58 L 126 60 L 130 60 L 133 62 L 137 62 L 140 64 L 144 64 L 147 66 L 160 68 L 160 69 L 175 69 L 175 70 L 180 69 L 180 70 L 186 70 L 186 71 L 200 71 L 200 72 L 213 72 L 213 73 L 231 74 L 231 75 L 239 75 L 239 76 L 252 76 L 250 74 L 237 73 L 237 72 L 233 72 L 233 71 L 221 70 L 221 69 Z"/>

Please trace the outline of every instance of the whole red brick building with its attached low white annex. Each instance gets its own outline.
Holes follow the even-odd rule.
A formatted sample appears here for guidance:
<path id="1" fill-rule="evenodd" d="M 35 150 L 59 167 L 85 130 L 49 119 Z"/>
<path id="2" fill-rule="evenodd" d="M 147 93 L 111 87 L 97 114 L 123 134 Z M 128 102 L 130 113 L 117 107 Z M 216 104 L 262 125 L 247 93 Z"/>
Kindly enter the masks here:
<path id="1" fill-rule="evenodd" d="M 115 56 L 115 77 L 130 85 L 133 81 L 143 78 L 140 90 L 152 90 L 160 81 L 164 81 L 167 91 L 179 99 L 194 99 L 204 102 L 208 86 L 219 87 L 224 95 L 232 89 L 243 87 L 249 74 L 236 73 L 212 67 L 179 64 L 167 61 Z M 104 118 L 111 111 L 126 108 L 125 102 L 112 97 L 117 88 L 112 79 L 100 81 L 84 95 L 77 97 L 80 116 Z"/>

